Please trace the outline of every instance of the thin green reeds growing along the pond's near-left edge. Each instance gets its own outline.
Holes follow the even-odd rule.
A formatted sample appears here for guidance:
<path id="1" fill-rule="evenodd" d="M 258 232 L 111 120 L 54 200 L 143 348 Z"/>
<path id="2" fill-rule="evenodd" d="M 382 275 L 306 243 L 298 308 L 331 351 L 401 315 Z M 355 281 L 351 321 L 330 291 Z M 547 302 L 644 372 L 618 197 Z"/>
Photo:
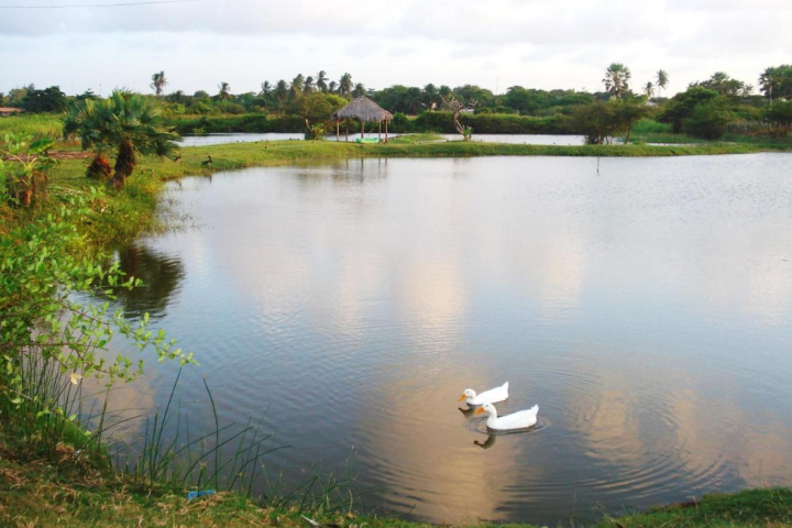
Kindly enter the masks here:
<path id="1" fill-rule="evenodd" d="M 16 426 L 12 432 L 35 441 L 41 454 L 57 459 L 64 443 L 74 446 L 80 457 L 128 477 L 144 493 L 162 488 L 233 492 L 262 505 L 311 515 L 350 512 L 359 505 L 346 476 L 316 474 L 296 485 L 270 481 L 265 459 L 292 447 L 274 444 L 273 436 L 262 429 L 263 416 L 255 422 L 223 424 L 206 380 L 211 419 L 208 427 L 191 431 L 190 413 L 177 403 L 183 369 L 162 409 L 131 416 L 129 410 L 134 409 L 112 408 L 112 387 L 99 389 L 84 380 L 74 384 L 55 362 L 30 361 L 24 372 L 30 404 L 12 411 Z M 42 420 L 38 414 L 45 407 L 34 402 L 54 399 L 73 414 Z M 130 422 L 141 424 L 140 437 L 117 437 L 116 431 Z"/>

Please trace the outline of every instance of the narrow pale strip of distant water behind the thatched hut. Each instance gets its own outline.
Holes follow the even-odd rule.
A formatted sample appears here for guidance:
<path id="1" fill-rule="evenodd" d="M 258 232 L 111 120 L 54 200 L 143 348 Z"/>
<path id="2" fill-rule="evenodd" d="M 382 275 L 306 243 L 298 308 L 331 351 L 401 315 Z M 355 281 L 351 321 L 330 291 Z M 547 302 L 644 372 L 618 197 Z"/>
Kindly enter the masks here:
<path id="1" fill-rule="evenodd" d="M 392 134 L 394 138 L 398 134 Z M 460 134 L 440 134 L 449 141 L 460 141 Z M 365 134 L 366 138 L 376 138 L 376 133 Z M 350 141 L 360 138 L 360 134 L 350 135 Z M 207 134 L 207 135 L 186 135 L 179 142 L 180 146 L 208 146 L 222 145 L 228 143 L 253 143 L 257 141 L 302 141 L 302 133 L 228 133 L 228 134 Z M 336 135 L 327 135 L 328 141 L 336 141 Z M 343 141 L 343 136 L 341 138 Z M 547 135 L 547 134 L 474 134 L 473 141 L 485 143 L 525 143 L 529 145 L 582 145 L 584 143 L 582 135 Z"/>

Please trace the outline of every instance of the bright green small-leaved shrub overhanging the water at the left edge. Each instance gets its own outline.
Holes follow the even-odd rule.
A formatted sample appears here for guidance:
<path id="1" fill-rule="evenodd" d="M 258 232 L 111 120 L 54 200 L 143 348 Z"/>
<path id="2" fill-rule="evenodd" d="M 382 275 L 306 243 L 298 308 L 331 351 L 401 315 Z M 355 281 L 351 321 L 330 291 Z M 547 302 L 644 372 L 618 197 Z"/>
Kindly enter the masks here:
<path id="1" fill-rule="evenodd" d="M 0 235 L 0 414 L 7 420 L 75 421 L 84 380 L 100 377 L 108 388 L 133 381 L 143 361 L 119 354 L 111 346 L 117 334 L 160 361 L 193 362 L 162 330 L 150 329 L 147 315 L 131 323 L 111 311 L 112 288 L 134 288 L 140 279 L 88 251 L 77 226 L 90 215 L 86 201 L 72 200 Z M 97 294 L 110 300 L 80 300 Z"/>

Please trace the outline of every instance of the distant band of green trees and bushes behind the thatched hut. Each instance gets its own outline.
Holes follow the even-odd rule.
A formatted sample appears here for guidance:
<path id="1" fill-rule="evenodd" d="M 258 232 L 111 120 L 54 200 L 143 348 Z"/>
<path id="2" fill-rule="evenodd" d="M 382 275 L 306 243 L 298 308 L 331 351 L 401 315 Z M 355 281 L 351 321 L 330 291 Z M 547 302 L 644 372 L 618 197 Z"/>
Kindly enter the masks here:
<path id="1" fill-rule="evenodd" d="M 290 81 L 263 81 L 257 92 L 233 94 L 228 82 L 220 82 L 215 95 L 205 90 L 188 95 L 165 94 L 165 75 L 152 76 L 154 94 L 146 97 L 164 117 L 164 124 L 180 134 L 302 132 L 306 120 L 330 130 L 331 113 L 358 96 L 367 96 L 394 113 L 391 130 L 395 133 L 455 133 L 442 103 L 452 98 L 470 110 L 460 116 L 460 123 L 474 134 L 582 134 L 592 143 L 606 143 L 614 136 L 629 140 L 631 125 L 645 118 L 698 140 L 721 140 L 727 134 L 789 138 L 792 133 L 792 65 L 761 72 L 758 92 L 750 82 L 716 72 L 671 98 L 662 97 L 672 84 L 667 72 L 660 69 L 656 78 L 639 81 L 635 88 L 629 67 L 618 63 L 605 69 L 602 91 L 512 86 L 504 94 L 493 94 L 473 85 L 451 88 L 431 82 L 371 89 L 353 82 L 350 74 L 336 81 L 319 72 L 299 74 Z M 58 112 L 74 101 L 98 98 L 90 90 L 66 97 L 57 87 L 41 90 L 30 85 L 0 94 L 0 107 Z"/>

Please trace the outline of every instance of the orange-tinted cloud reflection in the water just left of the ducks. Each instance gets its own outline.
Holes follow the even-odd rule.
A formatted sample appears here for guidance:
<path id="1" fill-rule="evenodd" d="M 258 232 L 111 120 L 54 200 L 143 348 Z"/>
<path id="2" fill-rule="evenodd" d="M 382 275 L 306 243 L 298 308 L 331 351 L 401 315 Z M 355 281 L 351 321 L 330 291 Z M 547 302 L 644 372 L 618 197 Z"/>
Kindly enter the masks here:
<path id="1" fill-rule="evenodd" d="M 525 470 L 509 462 L 520 458 L 520 442 L 499 443 L 495 459 L 480 457 L 472 442 L 481 435 L 459 415 L 449 420 L 457 411 L 439 400 L 459 392 L 457 381 L 442 370 L 426 376 L 419 369 L 400 370 L 404 377 L 392 373 L 386 388 L 399 397 L 364 417 L 359 460 L 371 469 L 376 485 L 387 490 L 383 505 L 432 520 L 505 518 L 498 512 L 502 497 Z M 416 381 L 430 384 L 432 391 L 417 389 Z M 399 441 L 403 438 L 414 441 Z"/>

